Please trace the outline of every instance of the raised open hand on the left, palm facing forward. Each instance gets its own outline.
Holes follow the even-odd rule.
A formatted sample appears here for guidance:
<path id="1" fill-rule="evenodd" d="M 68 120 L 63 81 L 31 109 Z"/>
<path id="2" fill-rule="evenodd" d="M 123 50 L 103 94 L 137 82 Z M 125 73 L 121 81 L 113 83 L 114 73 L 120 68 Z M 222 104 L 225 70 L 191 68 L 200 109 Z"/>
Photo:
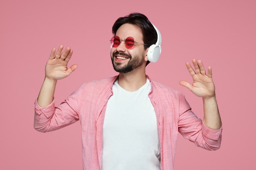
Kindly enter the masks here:
<path id="1" fill-rule="evenodd" d="M 45 77 L 52 80 L 63 79 L 69 76 L 76 68 L 77 65 L 74 64 L 67 68 L 67 63 L 69 62 L 73 50 L 70 47 L 67 47 L 64 52 L 63 46 L 59 46 L 58 51 L 52 49 L 49 60 L 45 66 Z M 56 52 L 56 54 L 55 54 Z"/>

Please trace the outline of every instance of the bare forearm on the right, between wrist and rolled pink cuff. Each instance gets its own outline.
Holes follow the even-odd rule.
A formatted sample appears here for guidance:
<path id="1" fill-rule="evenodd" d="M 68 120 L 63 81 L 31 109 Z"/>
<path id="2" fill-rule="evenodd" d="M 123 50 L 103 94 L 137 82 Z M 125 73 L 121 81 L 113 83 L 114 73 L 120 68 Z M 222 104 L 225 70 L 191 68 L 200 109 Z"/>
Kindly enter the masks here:
<path id="1" fill-rule="evenodd" d="M 216 95 L 211 98 L 203 98 L 204 124 L 211 129 L 221 127 L 220 113 L 217 105 Z"/>

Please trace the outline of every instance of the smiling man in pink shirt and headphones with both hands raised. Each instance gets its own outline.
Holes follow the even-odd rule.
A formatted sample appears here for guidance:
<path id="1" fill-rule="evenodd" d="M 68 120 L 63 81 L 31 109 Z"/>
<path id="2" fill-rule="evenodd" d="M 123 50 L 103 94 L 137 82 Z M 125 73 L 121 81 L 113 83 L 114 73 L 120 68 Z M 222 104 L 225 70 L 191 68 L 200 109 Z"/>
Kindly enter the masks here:
<path id="1" fill-rule="evenodd" d="M 195 70 L 189 63 L 186 67 L 193 84 L 180 82 L 202 97 L 202 121 L 180 92 L 146 75 L 150 55 L 155 57 L 150 48 L 161 51 L 161 35 L 145 15 L 119 18 L 112 32 L 111 60 L 119 75 L 83 84 L 56 107 L 57 79 L 70 75 L 77 65 L 67 68 L 73 52 L 69 47 L 52 50 L 35 102 L 36 130 L 57 130 L 80 120 L 84 170 L 172 170 L 178 132 L 196 146 L 218 149 L 222 125 L 211 67 L 207 74 L 200 60 L 192 60 Z"/>

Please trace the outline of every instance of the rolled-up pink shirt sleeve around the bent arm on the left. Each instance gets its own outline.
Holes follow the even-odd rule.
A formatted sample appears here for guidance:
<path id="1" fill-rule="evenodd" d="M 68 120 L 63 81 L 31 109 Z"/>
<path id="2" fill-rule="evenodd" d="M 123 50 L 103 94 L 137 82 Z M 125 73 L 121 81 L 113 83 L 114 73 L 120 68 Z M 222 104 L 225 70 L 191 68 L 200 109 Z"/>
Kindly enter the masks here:
<path id="1" fill-rule="evenodd" d="M 73 124 L 79 120 L 79 115 L 74 110 L 76 100 L 74 94 L 65 102 L 55 106 L 55 99 L 51 104 L 40 107 L 35 101 L 34 128 L 39 132 L 49 132 Z"/>

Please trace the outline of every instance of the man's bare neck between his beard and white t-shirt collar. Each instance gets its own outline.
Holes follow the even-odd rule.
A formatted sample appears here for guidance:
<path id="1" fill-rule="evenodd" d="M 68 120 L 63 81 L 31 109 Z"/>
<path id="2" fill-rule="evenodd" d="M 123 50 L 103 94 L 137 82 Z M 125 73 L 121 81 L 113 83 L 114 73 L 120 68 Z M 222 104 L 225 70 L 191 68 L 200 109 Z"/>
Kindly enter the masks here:
<path id="1" fill-rule="evenodd" d="M 137 91 L 144 84 L 146 84 L 147 78 L 145 71 L 136 73 L 120 73 L 118 77 L 118 84 L 126 91 Z"/>

